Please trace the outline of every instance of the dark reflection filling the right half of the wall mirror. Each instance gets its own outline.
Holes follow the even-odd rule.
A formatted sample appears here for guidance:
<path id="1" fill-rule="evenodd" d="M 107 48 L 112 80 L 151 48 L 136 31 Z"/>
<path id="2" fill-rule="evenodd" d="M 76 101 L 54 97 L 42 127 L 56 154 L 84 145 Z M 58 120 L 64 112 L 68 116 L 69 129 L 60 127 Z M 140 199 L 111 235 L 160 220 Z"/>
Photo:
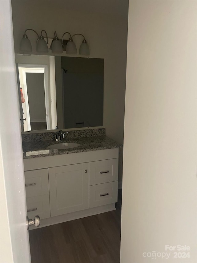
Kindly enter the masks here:
<path id="1" fill-rule="evenodd" d="M 58 126 L 103 126 L 103 59 L 56 56 L 55 74 Z"/>

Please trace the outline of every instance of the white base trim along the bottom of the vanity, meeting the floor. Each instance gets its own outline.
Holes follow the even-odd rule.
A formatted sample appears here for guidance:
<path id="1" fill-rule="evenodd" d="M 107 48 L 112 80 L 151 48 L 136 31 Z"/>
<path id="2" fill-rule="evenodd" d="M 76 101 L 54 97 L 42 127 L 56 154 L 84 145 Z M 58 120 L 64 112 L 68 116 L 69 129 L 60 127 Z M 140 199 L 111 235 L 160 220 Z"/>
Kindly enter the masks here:
<path id="1" fill-rule="evenodd" d="M 61 216 L 53 216 L 53 217 L 41 219 L 40 220 L 40 226 L 37 228 L 42 228 L 42 227 L 46 227 L 46 226 L 50 226 L 50 225 L 54 225 L 54 224 L 59 224 L 59 223 L 63 223 L 66 221 L 83 218 L 86 216 L 94 216 L 94 215 L 109 212 L 112 210 L 116 210 L 115 203 L 102 205 L 102 206 L 98 206 L 98 207 L 94 207 L 94 208 L 89 208 L 89 209 L 85 209 L 85 210 L 81 210 L 81 211 L 77 211 L 77 212 L 72 212 L 69 214 L 61 215 Z M 36 228 L 34 226 L 30 226 L 29 230 L 32 230 L 32 229 L 36 229 Z"/>

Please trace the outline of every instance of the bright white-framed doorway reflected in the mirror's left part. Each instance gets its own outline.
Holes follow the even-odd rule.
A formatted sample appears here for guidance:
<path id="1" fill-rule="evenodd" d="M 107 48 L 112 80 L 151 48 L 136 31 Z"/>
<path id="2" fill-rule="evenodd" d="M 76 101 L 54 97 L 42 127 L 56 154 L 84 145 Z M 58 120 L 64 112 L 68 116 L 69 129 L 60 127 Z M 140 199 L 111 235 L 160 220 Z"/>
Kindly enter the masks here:
<path id="1" fill-rule="evenodd" d="M 47 70 L 47 65 L 18 64 L 24 131 L 50 129 L 46 112 L 48 99 L 45 98 Z"/>

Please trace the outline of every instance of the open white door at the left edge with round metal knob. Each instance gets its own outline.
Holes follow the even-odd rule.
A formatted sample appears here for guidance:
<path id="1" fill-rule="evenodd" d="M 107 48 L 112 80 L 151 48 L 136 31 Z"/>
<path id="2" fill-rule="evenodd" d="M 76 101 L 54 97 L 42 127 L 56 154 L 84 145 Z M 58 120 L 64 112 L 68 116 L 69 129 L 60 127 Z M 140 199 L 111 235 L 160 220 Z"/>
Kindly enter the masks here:
<path id="1" fill-rule="evenodd" d="M 0 1 L 0 262 L 31 262 L 11 1 Z M 9 41 L 7 41 L 9 39 Z"/>

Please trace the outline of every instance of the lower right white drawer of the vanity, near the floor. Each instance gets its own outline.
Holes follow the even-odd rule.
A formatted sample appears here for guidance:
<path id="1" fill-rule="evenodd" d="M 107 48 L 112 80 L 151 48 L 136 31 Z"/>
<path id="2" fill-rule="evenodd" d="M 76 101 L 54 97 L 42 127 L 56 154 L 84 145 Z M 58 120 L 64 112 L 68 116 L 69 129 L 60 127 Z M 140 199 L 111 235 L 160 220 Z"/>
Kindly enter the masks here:
<path id="1" fill-rule="evenodd" d="M 118 201 L 118 181 L 89 187 L 90 208 Z"/>

